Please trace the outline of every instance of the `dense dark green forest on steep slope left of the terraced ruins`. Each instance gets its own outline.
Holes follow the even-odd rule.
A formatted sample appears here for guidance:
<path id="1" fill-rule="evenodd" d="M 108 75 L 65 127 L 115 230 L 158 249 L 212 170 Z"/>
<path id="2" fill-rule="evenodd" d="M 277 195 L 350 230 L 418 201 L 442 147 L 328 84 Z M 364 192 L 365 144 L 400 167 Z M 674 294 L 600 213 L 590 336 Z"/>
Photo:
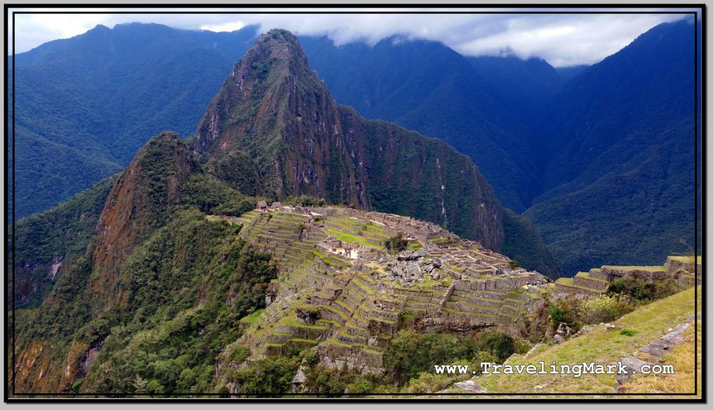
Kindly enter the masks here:
<path id="1" fill-rule="evenodd" d="M 128 261 L 129 320 L 113 324 L 94 364 L 97 371 L 82 389 L 131 392 L 123 370 L 128 367 L 148 380 L 149 393 L 213 391 L 216 357 L 240 335 L 240 318 L 249 312 L 255 317 L 255 309 L 264 307 L 276 270 L 269 255 L 235 239 L 227 224 L 201 219 L 193 212 L 178 217 Z M 185 248 L 188 241 L 198 246 Z M 181 255 L 182 249 L 189 253 Z M 183 272 L 175 271 L 178 266 Z M 201 293 L 205 302 L 197 306 Z M 102 318 L 88 326 L 97 320 Z"/>

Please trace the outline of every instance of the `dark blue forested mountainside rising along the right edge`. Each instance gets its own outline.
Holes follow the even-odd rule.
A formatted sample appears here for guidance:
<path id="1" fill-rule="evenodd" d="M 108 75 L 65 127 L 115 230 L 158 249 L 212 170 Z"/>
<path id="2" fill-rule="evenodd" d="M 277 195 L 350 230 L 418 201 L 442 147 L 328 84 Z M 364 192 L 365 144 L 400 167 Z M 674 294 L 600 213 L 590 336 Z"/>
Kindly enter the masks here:
<path id="1" fill-rule="evenodd" d="M 694 225 L 694 26 L 661 24 L 555 97 L 543 194 L 525 215 L 565 272 L 689 250 Z"/>

